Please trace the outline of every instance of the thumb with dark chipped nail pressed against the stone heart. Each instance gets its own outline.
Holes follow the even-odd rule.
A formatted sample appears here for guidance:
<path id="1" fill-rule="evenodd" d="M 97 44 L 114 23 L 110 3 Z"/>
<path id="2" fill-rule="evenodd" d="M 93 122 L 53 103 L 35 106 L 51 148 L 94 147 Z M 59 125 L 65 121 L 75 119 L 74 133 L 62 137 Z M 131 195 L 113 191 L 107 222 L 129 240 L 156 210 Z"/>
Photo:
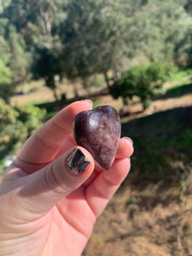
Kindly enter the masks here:
<path id="1" fill-rule="evenodd" d="M 70 148 L 38 172 L 28 175 L 19 192 L 20 207 L 42 216 L 73 190 L 78 189 L 94 170 L 91 154 L 82 147 Z"/>

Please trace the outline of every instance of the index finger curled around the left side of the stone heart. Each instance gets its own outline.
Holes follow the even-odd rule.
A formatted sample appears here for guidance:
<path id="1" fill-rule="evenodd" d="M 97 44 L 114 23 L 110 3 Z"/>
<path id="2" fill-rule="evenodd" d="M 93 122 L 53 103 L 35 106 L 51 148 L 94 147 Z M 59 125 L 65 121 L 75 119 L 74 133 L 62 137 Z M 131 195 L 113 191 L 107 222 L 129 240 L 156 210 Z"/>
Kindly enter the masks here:
<path id="1" fill-rule="evenodd" d="M 73 131 L 75 115 L 91 108 L 89 101 L 74 102 L 63 108 L 26 141 L 18 159 L 15 160 L 15 165 L 26 172 L 28 169 L 32 169 L 29 166 L 31 164 L 32 167 L 35 165 L 46 166 L 55 159 L 62 142 Z"/>

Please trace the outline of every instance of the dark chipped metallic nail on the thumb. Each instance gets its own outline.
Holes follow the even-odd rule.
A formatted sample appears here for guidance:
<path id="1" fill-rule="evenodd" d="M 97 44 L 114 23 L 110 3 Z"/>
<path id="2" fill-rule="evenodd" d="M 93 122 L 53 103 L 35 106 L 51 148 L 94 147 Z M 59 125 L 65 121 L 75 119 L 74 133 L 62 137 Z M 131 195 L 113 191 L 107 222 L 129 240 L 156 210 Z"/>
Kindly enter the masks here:
<path id="1" fill-rule="evenodd" d="M 89 165 L 90 161 L 86 159 L 84 153 L 79 148 L 74 149 L 67 159 L 67 166 L 70 172 L 75 175 L 84 172 Z"/>

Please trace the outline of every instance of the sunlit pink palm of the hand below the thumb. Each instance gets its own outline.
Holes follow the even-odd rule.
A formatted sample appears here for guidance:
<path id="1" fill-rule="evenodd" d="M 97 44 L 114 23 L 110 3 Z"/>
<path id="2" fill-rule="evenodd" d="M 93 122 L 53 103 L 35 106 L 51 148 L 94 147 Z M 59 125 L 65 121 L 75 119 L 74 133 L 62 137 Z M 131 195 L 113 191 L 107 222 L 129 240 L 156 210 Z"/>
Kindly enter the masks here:
<path id="1" fill-rule="evenodd" d="M 23 241 L 22 247 L 30 248 L 32 255 L 39 255 L 39 252 L 46 256 L 80 255 L 96 220 L 84 193 L 82 186 L 42 218 L 33 220 L 32 225 L 27 223 L 22 233 L 30 233 L 30 236 Z M 18 232 L 18 237 L 23 236 L 22 233 Z"/>

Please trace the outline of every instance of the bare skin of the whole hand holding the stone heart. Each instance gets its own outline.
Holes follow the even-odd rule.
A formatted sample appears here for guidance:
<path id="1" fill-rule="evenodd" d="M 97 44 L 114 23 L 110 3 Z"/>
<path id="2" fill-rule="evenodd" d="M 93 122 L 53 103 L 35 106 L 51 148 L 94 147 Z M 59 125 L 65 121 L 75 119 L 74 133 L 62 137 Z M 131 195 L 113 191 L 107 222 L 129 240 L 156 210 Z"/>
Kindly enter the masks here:
<path id="1" fill-rule="evenodd" d="M 132 143 L 121 138 L 110 170 L 95 166 L 73 139 L 73 119 L 89 101 L 63 108 L 30 137 L 0 184 L 0 255 L 81 255 L 96 218 L 127 176 Z M 80 175 L 67 158 L 80 148 L 90 165 Z"/>

